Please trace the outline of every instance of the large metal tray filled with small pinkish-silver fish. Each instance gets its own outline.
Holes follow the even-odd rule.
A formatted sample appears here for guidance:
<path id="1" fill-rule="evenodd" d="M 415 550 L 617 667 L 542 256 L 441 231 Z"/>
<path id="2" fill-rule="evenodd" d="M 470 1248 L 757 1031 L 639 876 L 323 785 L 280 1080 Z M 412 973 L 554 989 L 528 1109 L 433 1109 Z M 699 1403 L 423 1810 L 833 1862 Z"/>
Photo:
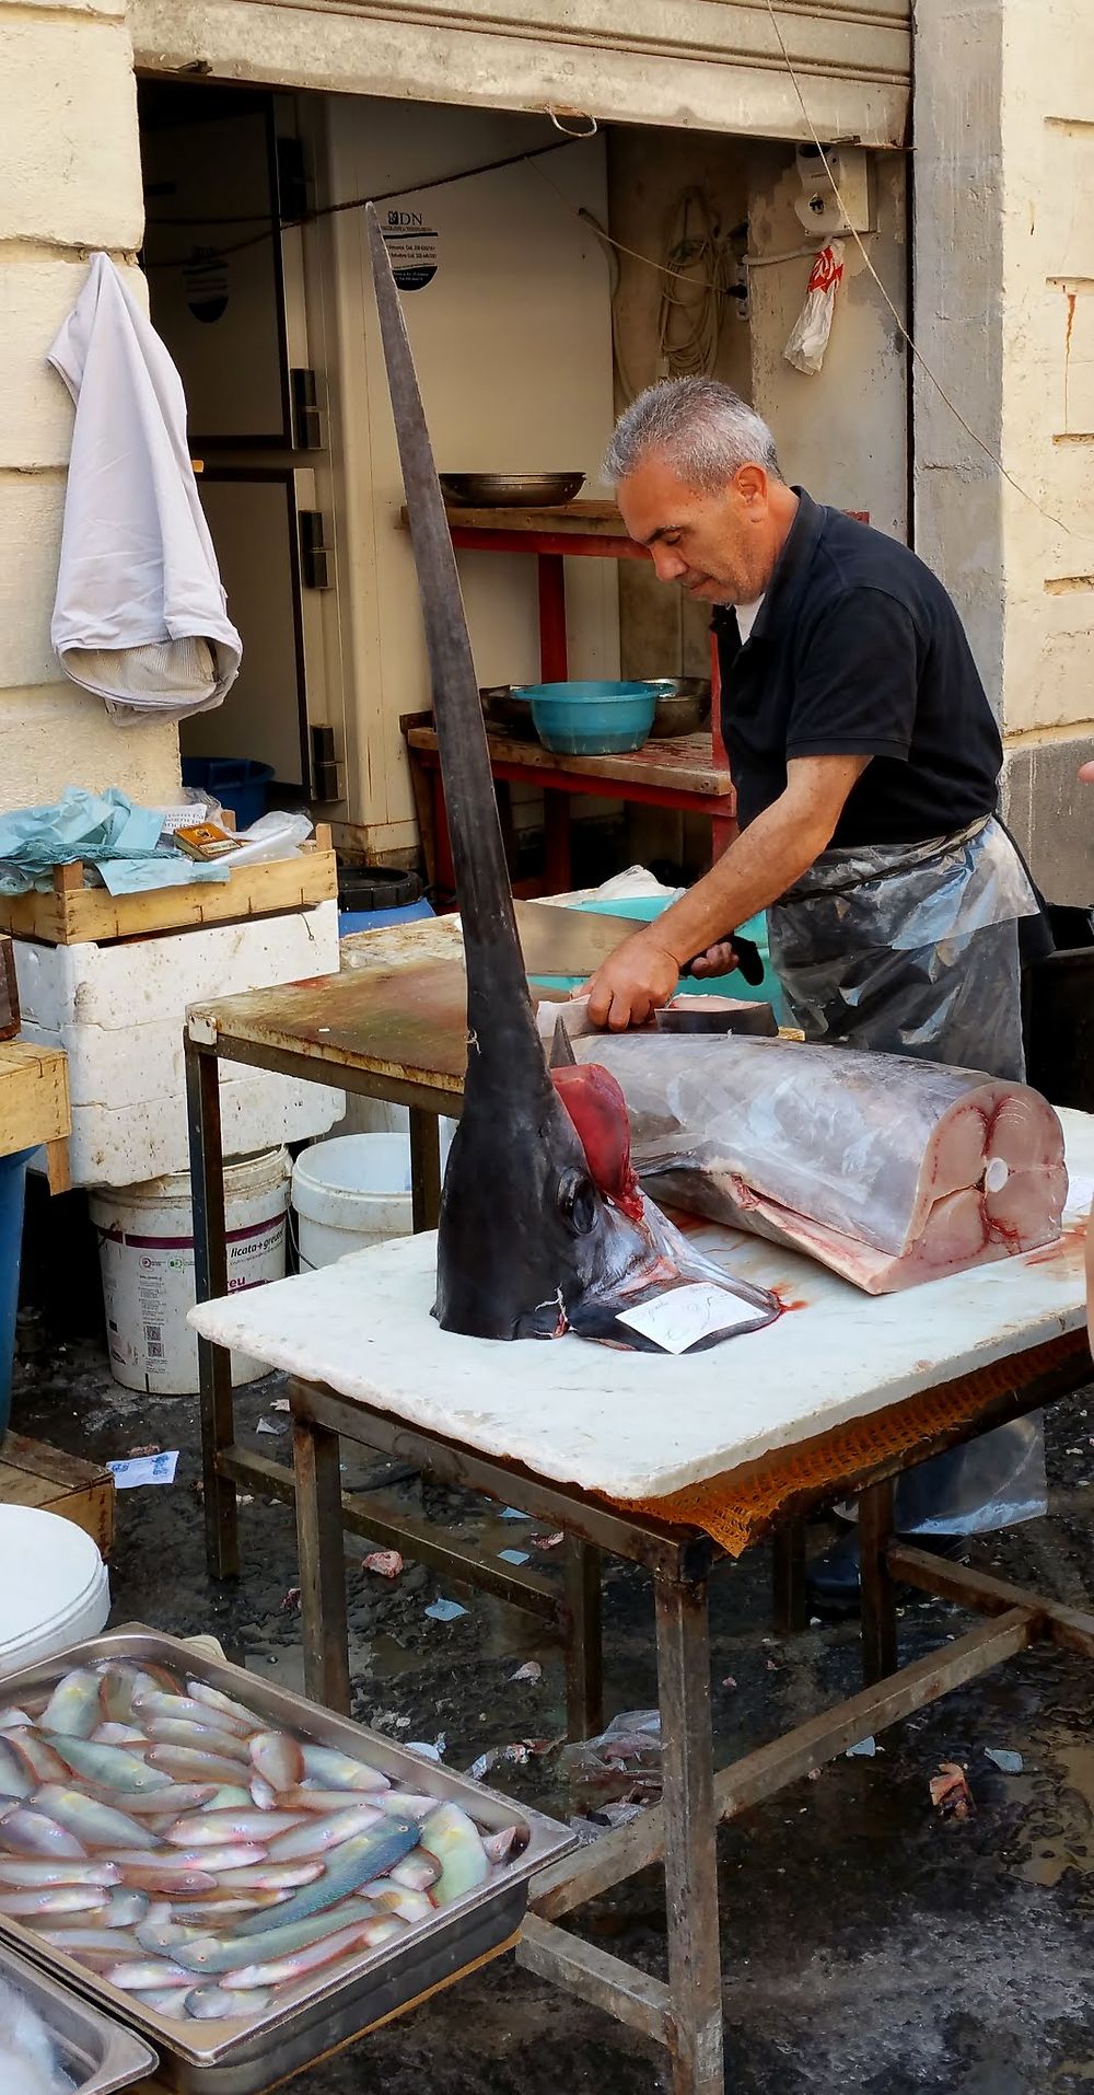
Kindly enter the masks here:
<path id="1" fill-rule="evenodd" d="M 151 1684 L 134 1689 L 134 1672 L 151 1680 Z M 113 1693 L 107 1697 L 101 1689 L 96 1697 L 88 1684 L 88 1674 L 109 1680 Z M 73 1676 L 82 1676 L 82 1682 L 78 1680 L 75 1686 L 69 1684 Z M 61 1682 L 65 1682 L 69 1697 L 65 1707 L 61 1707 L 54 1695 Z M 201 1745 L 168 1743 L 178 1741 L 178 1722 L 182 1722 L 182 1714 L 161 1714 L 170 1695 L 182 1695 L 191 1701 L 191 1714 L 184 1722 L 201 1728 L 193 1718 L 193 1693 L 187 1695 L 187 1686 L 193 1682 L 197 1682 L 201 1697 L 207 1697 L 205 1707 L 212 1718 L 210 1730 L 214 1737 L 218 1735 L 218 1726 L 226 1722 L 220 1712 L 235 1710 L 237 1726 L 239 1718 L 256 1720 L 256 1735 L 239 1728 L 235 1733 L 237 1749 L 245 1745 L 247 1760 L 233 1762 L 233 1781 L 228 1783 L 224 1781 L 226 1768 L 220 1777 L 212 1768 L 199 1768 L 195 1754 L 203 1749 Z M 80 1714 L 80 1695 L 90 1697 L 84 1714 Z M 124 1718 L 126 1695 L 130 1697 L 128 1724 L 124 1720 L 99 1722 L 107 1705 L 109 1718 Z M 57 1716 L 50 1726 L 40 1726 L 38 1720 L 44 1716 L 50 1697 L 50 1707 L 61 1712 L 65 1726 L 69 1722 L 80 1726 L 90 1722 L 96 1737 L 90 1730 L 84 1730 L 84 1739 L 80 1739 L 80 1730 L 59 1730 Z M 94 1710 L 88 1718 L 92 1703 Z M 8 1716 L 13 1710 L 27 1712 L 31 1718 L 29 1728 L 13 1728 Z M 99 1739 L 99 1733 L 103 1730 L 109 1735 L 107 1751 L 113 1749 L 124 1756 L 107 1764 L 109 1783 L 101 1779 L 105 1743 Z M 117 1735 L 124 1730 L 130 1730 L 130 1735 L 136 1733 L 140 1743 L 117 1743 Z M 157 1743 L 151 1743 L 153 1730 Z M 226 1733 L 220 1733 L 220 1741 L 226 1737 Z M 50 1754 L 59 1747 L 82 1762 L 82 1768 L 63 1762 L 67 1783 L 59 1783 L 50 1762 Z M 23 1760 L 23 1756 L 29 1758 Z M 132 1756 L 138 1766 L 143 1764 L 145 1774 L 132 1777 L 126 1756 Z M 356 1764 L 356 1774 L 363 1777 L 371 1770 L 371 1777 L 384 1781 L 384 1789 L 369 1789 L 356 1777 L 350 1779 L 342 1756 L 346 1756 L 346 1762 Z M 289 1783 L 287 1772 L 279 1772 L 287 1770 L 289 1764 L 296 1764 L 296 1783 Z M 40 1766 L 44 1772 L 40 1772 Z M 4 1768 L 8 1770 L 6 1777 Z M 509 1798 L 497 1795 L 440 1764 L 425 1762 L 379 1733 L 321 1710 L 300 1695 L 268 1686 L 241 1668 L 199 1657 L 178 1638 L 145 1630 L 143 1626 L 107 1632 L 86 1645 L 78 1645 L 61 1659 L 54 1657 L 48 1663 L 27 1668 L 0 1682 L 0 1800 L 4 1795 L 4 1779 L 15 1779 L 15 1772 L 23 1770 L 21 1779 L 29 1781 L 29 1768 L 34 1768 L 34 1783 L 38 1787 L 23 1791 L 10 1808 L 0 1802 L 0 1871 L 6 1871 L 6 1877 L 0 1877 L 4 1906 L 0 1911 L 0 1938 L 8 1938 L 27 1959 L 59 1973 L 65 1984 L 151 2036 L 161 2053 L 161 2080 L 172 2089 L 184 2091 L 184 2095 L 260 2095 L 260 2091 L 289 2078 L 314 2059 L 352 2043 L 373 2024 L 398 2013 L 421 1994 L 457 1978 L 459 1971 L 488 1957 L 518 1934 L 528 1904 L 528 1879 L 574 1844 L 572 1835 L 551 1818 L 518 1808 Z M 88 1768 L 94 1772 L 88 1772 Z M 333 1783 L 333 1789 L 319 1789 L 319 1777 L 327 1785 L 329 1768 L 342 1781 Z M 130 1774 L 128 1789 L 115 1787 L 113 1777 L 119 1770 Z M 180 1818 L 172 1821 L 168 1831 L 163 1831 L 168 1812 L 153 1814 L 153 1800 L 159 1802 L 157 1789 L 163 1789 L 166 1772 L 170 1772 L 174 1791 L 170 1812 L 180 1812 Z M 266 1781 L 268 1774 L 275 1777 L 275 1783 Z M 218 1783 L 216 1798 L 207 1789 L 210 1783 Z M 279 1783 L 283 1785 L 281 1791 L 277 1789 Z M 228 1798 L 233 1787 L 237 1795 L 247 1795 L 247 1806 L 251 1806 L 256 1795 L 262 1798 L 262 1804 L 254 1804 L 254 1810 L 245 1810 L 243 1804 L 235 1802 L 228 1806 L 222 1798 Z M 203 1804 L 189 1804 L 184 1808 L 178 1802 L 178 1791 L 187 1789 L 195 1795 L 203 1791 Z M 310 1804 L 302 1802 L 308 1789 L 312 1791 Z M 270 1791 L 268 1798 L 266 1791 Z M 354 1837 L 340 1831 L 337 1844 L 329 1842 L 323 1848 L 302 1846 L 312 1837 L 312 1827 L 333 1831 L 335 1806 L 342 1806 L 342 1793 L 348 1798 L 346 1810 L 340 1814 L 342 1821 L 346 1823 L 348 1814 L 356 1812 L 365 1821 L 365 1829 Z M 323 1795 L 323 1804 L 316 1802 L 319 1795 Z M 377 1806 L 379 1795 L 388 1795 L 388 1804 Z M 371 1814 L 377 1825 L 369 1823 L 369 1798 L 377 1806 Z M 423 1808 L 425 1798 L 436 1800 L 428 1810 Z M 119 1810 L 124 1816 L 136 1814 L 130 1818 L 128 1846 L 115 1846 L 113 1842 L 119 1825 L 117 1818 L 94 1823 L 86 1818 L 90 1808 L 101 1810 L 103 1806 Z M 27 1816 L 13 1821 L 13 1812 L 23 1810 Z M 224 1875 L 235 1873 L 235 1883 L 226 1883 L 224 1877 L 216 1879 L 214 1875 L 214 1890 L 210 1894 L 210 1873 L 195 1869 L 197 1848 L 193 1844 L 201 1835 L 199 1846 L 205 1850 L 201 1862 L 210 1862 L 212 1854 L 224 1854 L 222 1848 L 214 1850 L 207 1846 L 214 1835 L 218 1842 L 228 1837 L 218 1825 L 207 1825 L 212 1810 L 233 1816 L 243 1827 L 249 1827 L 264 1812 L 262 1831 L 275 1823 L 275 1816 L 279 1827 L 283 1827 L 285 1816 L 291 1816 L 293 1825 L 268 1837 L 266 1844 L 251 1844 L 258 1846 L 262 1860 L 251 1860 L 249 1867 L 235 1858 L 237 1854 L 245 1856 L 249 1833 L 241 1833 L 241 1846 L 233 1848 L 233 1860 L 220 1860 L 218 1865 Z M 440 1906 L 430 1904 L 430 1915 L 425 1917 L 421 1888 L 428 1886 L 428 1875 L 423 1871 L 438 1865 L 436 1856 L 425 1850 L 423 1827 L 428 1827 L 430 1814 L 436 1810 L 442 1810 L 442 1821 L 436 1821 L 436 1825 L 444 1823 L 453 1846 L 446 1850 L 448 1860 L 442 1862 L 440 1875 L 432 1879 L 428 1890 L 430 1900 L 444 1896 L 446 1902 Z M 57 1812 L 61 1812 L 61 1818 L 57 1818 Z M 38 1823 L 42 1816 L 54 1829 L 46 1842 Z M 197 1818 L 203 1821 L 201 1827 L 195 1825 Z M 490 1854 L 490 1846 L 495 1854 L 507 1850 L 503 1860 L 488 1862 L 486 1875 L 482 1875 L 478 1852 L 472 1854 L 474 1842 L 465 1831 L 465 1818 L 474 1821 L 486 1856 Z M 13 1823 L 8 1825 L 8 1821 Z M 27 1821 L 34 1821 L 34 1825 Z M 147 1854 L 134 1850 L 132 1844 L 134 1829 L 138 1825 L 143 1829 L 145 1821 L 149 1823 L 149 1844 L 153 1844 Z M 8 1825 L 6 1835 L 4 1825 Z M 63 1835 L 61 1846 L 57 1846 L 59 1825 Z M 86 1833 L 88 1825 L 90 1833 L 80 1842 L 73 1829 L 80 1827 Z M 400 1871 L 398 1877 L 388 1877 L 386 1869 L 379 1869 L 375 1871 L 375 1881 L 365 1886 L 350 1881 L 354 1850 L 363 1850 L 360 1860 L 365 1860 L 371 1854 L 369 1844 L 404 1842 L 411 1825 L 413 1846 L 388 1865 L 388 1869 L 394 1867 Z M 396 1827 L 402 1833 L 394 1833 L 392 1829 Z M 513 1829 L 516 1837 L 511 1839 Z M 25 1846 L 15 1846 L 17 1833 L 19 1837 L 27 1835 Z M 92 1833 L 103 1837 L 92 1837 Z M 166 1846 L 170 1837 L 176 1842 L 174 1850 Z M 316 1833 L 314 1837 L 323 1839 L 325 1835 Z M 434 1846 L 444 1846 L 438 1839 L 436 1827 L 432 1839 Z M 65 1842 L 71 1846 L 65 1846 Z M 277 1846 L 279 1842 L 281 1848 Z M 191 1852 L 187 1854 L 187 1850 Z M 82 1875 L 86 1886 L 96 1881 L 109 1883 L 111 1890 L 107 1894 L 96 1890 L 94 1898 L 105 1900 L 107 1909 L 113 1906 L 122 1915 L 128 1911 L 126 1900 L 140 1902 L 140 1890 L 134 1900 L 134 1886 L 143 1886 L 157 1900 L 153 1909 L 132 1921 L 132 1942 L 128 1917 L 107 1919 L 107 1929 L 113 1929 L 117 1936 L 119 1955 L 111 1955 L 113 1942 L 111 1953 L 105 1953 L 103 1944 L 96 1950 L 90 1946 L 75 1948 L 82 1934 L 75 1927 L 82 1919 L 80 1911 L 59 1911 L 54 1904 L 48 1915 L 42 1915 L 38 1906 L 34 1906 L 34 1913 L 27 1909 L 34 1888 L 44 1881 L 34 1862 L 63 1858 L 65 1854 L 69 1858 L 84 1856 L 84 1862 L 78 1860 L 75 1869 L 71 1860 L 65 1862 L 69 1877 L 57 1877 L 54 1890 L 73 1875 Z M 111 1856 L 117 1856 L 117 1862 Z M 306 1856 L 321 1856 L 323 1860 L 323 1869 L 319 1873 L 312 1871 L 310 1877 L 308 1860 L 293 1862 L 293 1858 Z M 411 1865 L 417 1865 L 417 1871 Z M 119 1875 L 111 1877 L 109 1871 L 115 1867 Z M 107 1871 L 107 1877 L 92 1877 L 92 1871 L 101 1869 Z M 195 1871 L 193 1877 L 189 1875 L 191 1871 Z M 277 1886 L 266 1883 L 262 1890 L 256 1890 L 256 1879 L 260 1875 L 268 1877 L 270 1871 L 277 1877 Z M 197 1881 L 197 1875 L 203 1875 L 203 1888 L 197 1894 L 178 1890 L 182 1883 L 189 1888 L 191 1881 Z M 310 1917 L 304 1915 L 298 1921 L 293 1909 L 300 1909 L 304 1896 L 312 1896 L 306 1894 L 306 1879 L 314 1883 L 316 1877 L 323 1879 L 325 1875 L 329 1894 L 325 1909 L 319 1915 L 310 1909 Z M 402 1888 L 415 1875 L 421 1879 L 419 1892 L 407 1894 L 404 1904 L 409 1913 L 404 1915 L 402 1900 L 394 1898 L 394 1894 L 396 1888 Z M 480 1881 L 474 1881 L 467 1890 L 459 1890 L 461 1881 L 469 1875 L 478 1875 Z M 239 1900 L 241 1886 L 247 1879 L 249 1886 L 243 1892 L 243 1904 L 251 1900 L 247 1919 L 231 1919 L 226 1929 L 220 1923 L 214 1934 L 214 1921 L 207 1919 L 212 1906 L 201 1902 L 212 1896 L 212 1904 L 216 1906 L 224 1898 L 233 1900 L 233 1894 Z M 333 1881 L 346 1888 L 331 1894 L 329 1886 Z M 75 1896 L 80 1896 L 80 1883 L 75 1886 Z M 381 1904 L 373 1904 L 377 1898 Z M 394 1904 L 390 1904 L 392 1898 Z M 189 1927 L 178 1919 L 187 1911 L 187 1900 L 195 1900 L 189 1913 L 201 1915 L 195 1923 L 197 1936 L 193 1925 Z M 258 1906 L 260 1900 L 262 1906 Z M 363 1919 L 356 1919 L 354 1900 L 360 1902 Z M 279 1904 L 283 1904 L 287 1921 L 281 1915 L 275 1919 Z M 352 1940 L 344 1932 L 342 1921 L 335 1925 L 335 1909 L 337 1915 L 346 1915 L 346 1911 L 354 1915 Z M 101 1911 L 103 1906 L 96 1906 L 88 1919 L 94 1921 Z M 233 1915 L 237 1911 L 239 1904 L 233 1904 Z M 392 1923 L 390 1927 L 373 1925 L 386 1919 Z M 394 1936 L 394 1919 L 400 1919 L 402 1925 L 392 1940 L 388 1936 Z M 176 1990 L 170 1997 L 161 1988 L 159 1963 L 155 1965 L 157 1976 L 151 1980 L 151 1986 L 143 1971 L 143 1984 L 130 1990 L 134 1978 L 132 1961 L 145 1957 L 145 1944 L 136 1936 L 138 1925 L 145 1936 L 153 1927 L 157 1929 L 155 1955 L 159 1959 L 189 1959 L 187 1965 L 174 1965 L 172 1986 Z M 281 1927 L 279 1942 L 275 1942 L 277 1927 Z M 293 1929 L 306 1932 L 308 1927 L 314 1929 L 319 1946 L 308 1938 L 308 1946 L 298 1953 L 291 1946 L 296 1944 Z M 69 1929 L 75 1929 L 75 1934 L 71 1934 L 71 1942 L 65 1946 Z M 99 1929 L 90 1927 L 88 1934 L 94 1938 Z M 375 1946 L 369 1946 L 369 1942 L 363 1944 L 365 1934 L 373 1938 Z M 254 1953 L 254 1961 L 237 1965 L 235 1957 L 243 1938 L 247 1957 Z M 331 1944 L 331 1953 L 340 1944 L 337 1961 L 308 1965 L 308 1959 L 325 1955 L 327 1942 Z M 224 1957 L 228 1955 L 228 1946 L 233 1969 L 226 1973 Z M 283 1965 L 289 1957 L 293 1957 L 293 1965 L 285 1973 Z M 300 1969 L 300 1963 L 304 1969 Z M 187 1969 L 195 1973 L 193 1988 L 182 1978 Z M 270 1971 L 279 1971 L 281 1976 L 272 1980 Z M 126 1984 L 115 1984 L 111 1973 L 124 1973 Z M 266 1973 L 266 1978 L 258 1978 L 258 1973 Z M 187 2003 L 197 1992 L 205 1997 L 201 2013 L 212 2015 L 212 2020 L 193 2020 L 195 2011 Z M 254 2005 L 247 2001 L 247 1992 L 254 1992 Z M 180 2001 L 178 2009 L 174 2009 L 174 1999 Z"/>

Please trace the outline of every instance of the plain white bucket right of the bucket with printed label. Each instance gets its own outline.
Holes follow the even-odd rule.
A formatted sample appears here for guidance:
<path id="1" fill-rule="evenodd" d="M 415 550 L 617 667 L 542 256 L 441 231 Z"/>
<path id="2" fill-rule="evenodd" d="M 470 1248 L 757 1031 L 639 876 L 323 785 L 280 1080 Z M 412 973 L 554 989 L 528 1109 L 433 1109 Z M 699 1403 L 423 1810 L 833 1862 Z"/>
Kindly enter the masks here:
<path id="1" fill-rule="evenodd" d="M 300 1270 L 333 1265 L 350 1251 L 409 1236 L 411 1140 L 402 1133 L 312 1142 L 293 1165 Z"/>

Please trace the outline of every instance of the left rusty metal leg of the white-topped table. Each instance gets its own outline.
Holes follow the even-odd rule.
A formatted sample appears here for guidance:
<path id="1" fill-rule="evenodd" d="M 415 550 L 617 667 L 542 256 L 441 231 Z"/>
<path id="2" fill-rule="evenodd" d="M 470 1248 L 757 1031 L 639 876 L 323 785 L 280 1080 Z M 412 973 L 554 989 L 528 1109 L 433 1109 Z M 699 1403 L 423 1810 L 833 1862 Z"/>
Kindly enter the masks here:
<path id="1" fill-rule="evenodd" d="M 304 1630 L 304 1695 L 350 1714 L 350 1632 L 337 1433 L 293 1418 L 296 1546 Z"/>

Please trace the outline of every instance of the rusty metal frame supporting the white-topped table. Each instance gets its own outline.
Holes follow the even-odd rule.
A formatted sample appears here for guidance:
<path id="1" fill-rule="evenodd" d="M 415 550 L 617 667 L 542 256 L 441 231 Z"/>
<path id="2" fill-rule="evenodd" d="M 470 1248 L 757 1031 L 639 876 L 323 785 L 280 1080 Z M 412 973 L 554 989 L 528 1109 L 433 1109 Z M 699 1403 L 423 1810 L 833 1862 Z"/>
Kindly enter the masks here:
<path id="1" fill-rule="evenodd" d="M 1010 1364 L 1008 1364 L 1010 1366 Z M 666 2047 L 673 2095 L 723 2095 L 723 2005 L 717 1911 L 717 1827 L 775 1795 L 811 1768 L 838 1758 L 857 1739 L 884 1730 L 979 1674 L 1048 1638 L 1094 1657 L 1094 1613 L 1023 1592 L 981 1571 L 939 1563 L 893 1540 L 895 1477 L 979 1433 L 1069 1395 L 1090 1379 L 1086 1332 L 1071 1332 L 1012 1360 L 1014 1387 L 985 1395 L 972 1425 L 918 1437 L 903 1452 L 855 1473 L 832 1475 L 824 1490 L 790 1494 L 778 1513 L 780 1586 L 788 1624 L 803 1615 L 803 1515 L 847 1494 L 859 1500 L 861 1655 L 866 1689 L 822 1716 L 746 1754 L 715 1777 L 710 1730 L 708 1578 L 719 1557 L 698 1529 L 551 1483 L 526 1469 L 484 1458 L 472 1448 L 404 1425 L 360 1399 L 293 1379 L 293 1460 L 304 1615 L 306 1693 L 348 1710 L 346 1575 L 342 1546 L 340 1435 L 409 1456 L 434 1479 L 520 1506 L 564 1527 L 585 1548 L 585 1575 L 599 1550 L 646 1565 L 654 1575 L 658 1699 L 662 1720 L 662 1804 L 633 1825 L 534 1879 L 518 1963 L 578 1999 L 606 2009 L 631 2030 Z M 964 1387 L 960 1383 L 958 1387 Z M 778 1458 L 771 1458 L 778 1460 Z M 731 1494 L 731 1477 L 725 1479 Z M 463 1567 L 467 1578 L 467 1567 Z M 983 1615 L 939 1653 L 897 1666 L 897 1586 L 958 1601 Z M 593 1647 L 595 1636 L 595 1647 Z M 578 1636 L 587 1686 L 599 1689 L 599 1634 Z M 625 1959 L 568 1934 L 560 1923 L 612 1886 L 664 1862 L 669 1980 L 650 1978 Z"/>

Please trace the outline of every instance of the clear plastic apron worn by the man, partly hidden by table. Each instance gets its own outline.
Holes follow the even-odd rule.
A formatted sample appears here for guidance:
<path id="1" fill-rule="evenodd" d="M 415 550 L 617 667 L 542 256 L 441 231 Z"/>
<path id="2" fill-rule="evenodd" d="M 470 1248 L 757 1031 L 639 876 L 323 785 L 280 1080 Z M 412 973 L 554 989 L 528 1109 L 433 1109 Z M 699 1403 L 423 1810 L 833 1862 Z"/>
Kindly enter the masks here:
<path id="1" fill-rule="evenodd" d="M 826 851 L 767 913 L 809 1041 L 1025 1079 L 1019 924 L 1040 913 L 995 817 L 924 844 Z M 1037 1412 L 897 1483 L 901 1534 L 979 1534 L 1048 1510 Z"/>

